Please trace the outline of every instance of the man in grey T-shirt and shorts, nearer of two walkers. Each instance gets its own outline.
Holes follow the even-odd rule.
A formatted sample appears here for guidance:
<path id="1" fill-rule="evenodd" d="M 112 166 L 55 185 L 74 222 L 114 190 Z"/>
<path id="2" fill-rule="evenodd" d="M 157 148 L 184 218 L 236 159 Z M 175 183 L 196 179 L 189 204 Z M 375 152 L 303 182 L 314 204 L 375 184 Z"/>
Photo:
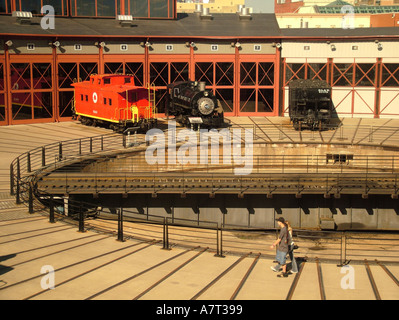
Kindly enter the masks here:
<path id="1" fill-rule="evenodd" d="M 288 246 L 290 244 L 291 239 L 284 218 L 283 217 L 278 218 L 276 219 L 276 221 L 280 227 L 280 234 L 278 239 L 270 246 L 270 249 L 274 249 L 275 247 L 277 247 L 276 260 L 278 264 L 274 267 L 271 267 L 271 269 L 274 272 L 279 272 L 280 269 L 282 269 L 283 273 L 278 276 L 286 278 L 288 276 L 286 259 L 288 253 Z"/>

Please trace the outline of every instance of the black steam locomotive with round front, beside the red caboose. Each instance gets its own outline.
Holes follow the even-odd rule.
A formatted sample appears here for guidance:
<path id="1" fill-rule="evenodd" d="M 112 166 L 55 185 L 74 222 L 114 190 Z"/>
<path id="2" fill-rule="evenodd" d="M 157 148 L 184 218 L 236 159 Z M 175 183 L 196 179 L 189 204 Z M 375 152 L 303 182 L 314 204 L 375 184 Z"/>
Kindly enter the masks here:
<path id="1" fill-rule="evenodd" d="M 182 81 L 168 85 L 168 115 L 184 126 L 217 128 L 224 125 L 223 108 L 205 82 Z"/>

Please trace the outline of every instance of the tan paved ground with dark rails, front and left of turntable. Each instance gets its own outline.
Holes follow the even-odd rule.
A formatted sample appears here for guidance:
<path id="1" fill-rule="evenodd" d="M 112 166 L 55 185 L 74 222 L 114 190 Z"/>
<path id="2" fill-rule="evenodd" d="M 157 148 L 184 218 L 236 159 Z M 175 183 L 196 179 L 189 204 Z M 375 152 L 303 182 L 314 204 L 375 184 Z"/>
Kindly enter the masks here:
<path id="1" fill-rule="evenodd" d="M 49 142 L 108 132 L 72 122 L 0 127 L 0 299 L 399 299 L 398 265 L 302 262 L 299 274 L 278 278 L 263 255 L 162 250 L 151 238 L 118 242 L 15 205 L 8 195 L 12 159 Z"/>

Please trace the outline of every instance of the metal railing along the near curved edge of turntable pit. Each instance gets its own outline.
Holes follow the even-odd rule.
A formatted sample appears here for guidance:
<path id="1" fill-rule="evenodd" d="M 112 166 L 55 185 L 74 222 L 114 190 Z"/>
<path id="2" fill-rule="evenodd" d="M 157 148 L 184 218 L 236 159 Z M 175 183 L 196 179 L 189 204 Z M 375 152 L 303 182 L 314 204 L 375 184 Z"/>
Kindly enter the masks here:
<path id="1" fill-rule="evenodd" d="M 164 215 L 140 214 L 124 207 L 110 213 L 95 209 L 96 204 L 68 202 L 68 217 L 62 212 L 63 199 L 43 197 L 49 207 L 49 221 L 56 218 L 75 223 L 78 231 L 98 230 L 113 234 L 118 241 L 138 239 L 158 241 L 165 250 L 173 247 L 207 247 L 215 256 L 252 252 L 273 258 L 269 246 L 278 237 L 277 229 L 236 229 L 206 220 L 181 219 Z M 60 210 L 61 209 L 61 210 Z M 330 261 L 344 265 L 350 261 L 378 259 L 383 263 L 399 263 L 397 233 L 365 233 L 352 231 L 294 230 L 294 241 L 299 246 L 295 257 L 303 260 Z"/>

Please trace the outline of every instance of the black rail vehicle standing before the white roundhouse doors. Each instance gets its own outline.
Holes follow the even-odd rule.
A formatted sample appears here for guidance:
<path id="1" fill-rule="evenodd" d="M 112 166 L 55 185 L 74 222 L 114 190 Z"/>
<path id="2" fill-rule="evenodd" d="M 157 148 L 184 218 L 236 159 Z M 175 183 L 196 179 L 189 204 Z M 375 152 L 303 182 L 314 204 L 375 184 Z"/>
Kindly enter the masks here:
<path id="1" fill-rule="evenodd" d="M 295 130 L 327 129 L 332 114 L 331 86 L 322 80 L 291 81 L 289 114 Z"/>

